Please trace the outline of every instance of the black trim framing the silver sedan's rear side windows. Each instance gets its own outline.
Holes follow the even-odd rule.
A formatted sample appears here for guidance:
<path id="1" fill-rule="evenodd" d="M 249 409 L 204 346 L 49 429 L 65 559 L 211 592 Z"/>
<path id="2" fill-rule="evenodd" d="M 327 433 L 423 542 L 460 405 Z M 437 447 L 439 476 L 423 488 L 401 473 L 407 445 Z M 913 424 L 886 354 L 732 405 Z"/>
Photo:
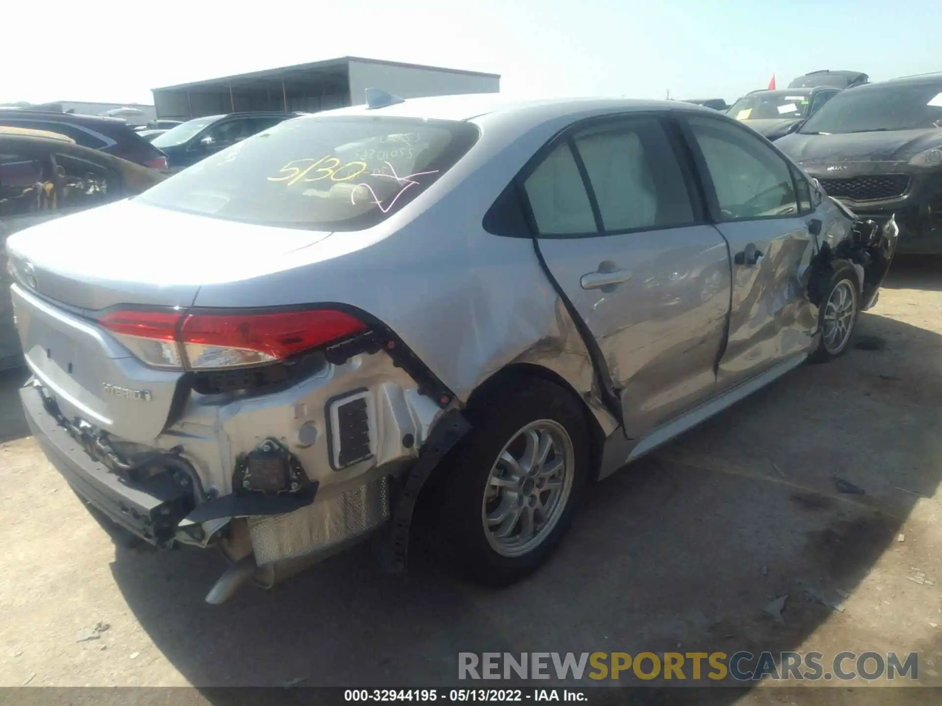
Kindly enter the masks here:
<path id="1" fill-rule="evenodd" d="M 550 137 L 544 143 L 544 145 L 540 147 L 540 149 L 533 153 L 533 156 L 528 159 L 527 164 L 525 164 L 523 168 L 521 168 L 516 173 L 516 175 L 514 175 L 511 183 L 507 185 L 507 187 L 500 193 L 497 199 L 495 199 L 494 204 L 492 204 L 491 208 L 488 209 L 488 212 L 484 216 L 484 230 L 487 233 L 499 235 L 501 237 L 577 239 L 610 237 L 615 235 L 627 235 L 631 233 L 667 231 L 677 228 L 691 228 L 693 226 L 709 225 L 711 223 L 711 219 L 709 216 L 709 210 L 707 208 L 707 201 L 704 201 L 706 198 L 704 185 L 701 183 L 697 169 L 694 168 L 691 162 L 692 155 L 690 154 L 689 146 L 678 132 L 678 126 L 675 124 L 673 117 L 674 112 L 675 111 L 669 110 L 638 110 L 608 113 L 605 115 L 577 120 L 576 122 L 567 125 L 555 136 Z M 610 231 L 604 230 L 601 212 L 598 208 L 598 201 L 595 198 L 595 192 L 592 183 L 589 180 L 589 174 L 585 168 L 585 162 L 582 159 L 582 155 L 578 152 L 574 136 L 578 132 L 592 128 L 596 125 L 624 123 L 630 122 L 631 120 L 640 120 L 645 118 L 654 118 L 658 120 L 661 129 L 664 131 L 664 135 L 667 137 L 668 143 L 671 146 L 671 152 L 674 154 L 674 159 L 680 168 L 684 186 L 687 191 L 687 196 L 690 201 L 690 210 L 693 214 L 693 219 L 688 223 L 676 223 L 664 226 L 642 226 L 639 228 L 617 229 Z M 586 195 L 589 198 L 589 203 L 593 210 L 593 217 L 595 219 L 596 228 L 595 231 L 584 233 L 540 233 L 540 229 L 537 227 L 536 217 L 534 216 L 532 207 L 530 206 L 527 190 L 524 188 L 524 184 L 529 176 L 536 170 L 536 168 L 543 164 L 546 157 L 548 157 L 551 152 L 555 151 L 561 144 L 566 144 L 569 147 L 573 154 L 573 158 L 576 161 L 579 175 L 582 178 L 582 185 L 586 190 Z M 524 212 L 524 217 L 529 226 L 528 233 L 498 232 L 502 229 L 495 225 L 495 217 L 493 217 L 494 215 L 492 214 L 492 211 L 498 203 L 501 203 L 507 199 L 508 191 L 513 192 L 514 198 L 518 201 L 520 208 Z"/>

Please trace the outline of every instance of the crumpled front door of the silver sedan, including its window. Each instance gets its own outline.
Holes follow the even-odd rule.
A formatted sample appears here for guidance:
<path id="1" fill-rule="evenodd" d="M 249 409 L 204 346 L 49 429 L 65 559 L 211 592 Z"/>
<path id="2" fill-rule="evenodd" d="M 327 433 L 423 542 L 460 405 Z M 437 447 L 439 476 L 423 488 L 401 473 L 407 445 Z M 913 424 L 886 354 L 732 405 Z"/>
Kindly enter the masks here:
<path id="1" fill-rule="evenodd" d="M 733 259 L 729 331 L 717 369 L 722 392 L 807 350 L 816 318 L 799 270 L 815 217 L 796 170 L 761 137 L 729 120 L 690 116 L 688 139 L 716 228 Z"/>

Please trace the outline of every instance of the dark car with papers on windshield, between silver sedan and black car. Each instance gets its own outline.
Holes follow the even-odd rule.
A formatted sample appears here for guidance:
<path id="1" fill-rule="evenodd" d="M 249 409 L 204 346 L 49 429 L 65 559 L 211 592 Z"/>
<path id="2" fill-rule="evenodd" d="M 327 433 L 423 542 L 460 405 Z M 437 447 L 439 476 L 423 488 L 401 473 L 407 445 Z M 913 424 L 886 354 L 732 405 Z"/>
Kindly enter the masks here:
<path id="1" fill-rule="evenodd" d="M 727 112 L 771 140 L 788 135 L 803 120 L 834 98 L 840 88 L 788 88 L 754 90 Z"/>

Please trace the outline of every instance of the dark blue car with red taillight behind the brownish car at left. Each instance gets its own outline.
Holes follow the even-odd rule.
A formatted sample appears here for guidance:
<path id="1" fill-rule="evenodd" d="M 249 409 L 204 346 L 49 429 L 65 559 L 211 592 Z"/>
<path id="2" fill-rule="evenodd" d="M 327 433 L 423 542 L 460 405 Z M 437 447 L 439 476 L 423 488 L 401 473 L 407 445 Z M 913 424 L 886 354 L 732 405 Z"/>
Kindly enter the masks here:
<path id="1" fill-rule="evenodd" d="M 117 118 L 0 108 L 0 125 L 65 135 L 75 144 L 91 150 L 107 152 L 144 167 L 167 168 L 164 153 Z"/>

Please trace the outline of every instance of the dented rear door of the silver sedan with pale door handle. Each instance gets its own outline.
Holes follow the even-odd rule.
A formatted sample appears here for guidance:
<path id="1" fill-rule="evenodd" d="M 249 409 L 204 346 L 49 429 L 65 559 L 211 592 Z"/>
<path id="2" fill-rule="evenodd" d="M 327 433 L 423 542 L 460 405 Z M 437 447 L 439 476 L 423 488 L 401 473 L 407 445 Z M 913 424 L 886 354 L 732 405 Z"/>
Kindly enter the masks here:
<path id="1" fill-rule="evenodd" d="M 524 181 L 551 281 L 619 391 L 625 435 L 709 398 L 729 307 L 729 256 L 660 117 L 595 121 Z"/>

